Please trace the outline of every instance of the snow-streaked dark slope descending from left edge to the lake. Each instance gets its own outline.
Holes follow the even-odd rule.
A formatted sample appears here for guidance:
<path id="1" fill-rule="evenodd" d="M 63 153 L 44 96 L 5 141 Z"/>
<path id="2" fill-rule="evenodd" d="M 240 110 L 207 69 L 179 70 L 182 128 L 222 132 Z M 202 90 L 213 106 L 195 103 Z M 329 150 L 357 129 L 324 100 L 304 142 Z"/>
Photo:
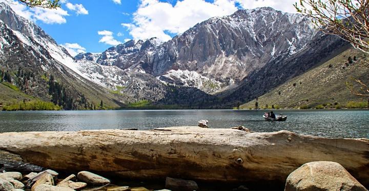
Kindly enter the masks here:
<path id="1" fill-rule="evenodd" d="M 22 92 L 64 106 L 68 102 L 65 109 L 91 109 L 101 100 L 104 107 L 119 107 L 129 99 L 81 73 L 63 47 L 5 3 L 0 3 L 0 29 L 0 69 Z"/>

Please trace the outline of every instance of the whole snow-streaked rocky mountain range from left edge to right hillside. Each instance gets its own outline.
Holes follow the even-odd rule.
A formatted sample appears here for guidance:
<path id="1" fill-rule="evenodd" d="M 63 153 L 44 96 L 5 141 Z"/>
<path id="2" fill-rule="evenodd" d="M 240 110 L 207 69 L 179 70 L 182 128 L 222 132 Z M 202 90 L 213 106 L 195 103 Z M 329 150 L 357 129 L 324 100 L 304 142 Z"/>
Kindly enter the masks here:
<path id="1" fill-rule="evenodd" d="M 167 42 L 131 40 L 74 58 L 4 3 L 0 20 L 7 28 L 0 36 L 2 68 L 29 66 L 39 77 L 52 73 L 79 91 L 77 99 L 86 94 L 94 104 L 104 99 L 115 107 L 141 100 L 189 108 L 233 107 L 347 48 L 339 38 L 315 31 L 302 15 L 272 8 L 210 18 Z M 48 99 L 45 91 L 34 92 Z"/>

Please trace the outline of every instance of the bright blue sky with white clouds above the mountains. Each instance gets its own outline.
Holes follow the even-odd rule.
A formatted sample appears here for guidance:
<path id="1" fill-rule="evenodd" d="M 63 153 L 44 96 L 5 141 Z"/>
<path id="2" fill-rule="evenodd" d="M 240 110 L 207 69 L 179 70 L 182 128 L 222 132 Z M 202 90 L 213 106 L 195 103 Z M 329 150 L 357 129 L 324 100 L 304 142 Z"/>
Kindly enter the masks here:
<path id="1" fill-rule="evenodd" d="M 103 52 L 129 39 L 167 41 L 213 16 L 237 9 L 273 7 L 295 12 L 296 0 L 60 0 L 58 10 L 27 8 L 13 1 L 18 14 L 32 20 L 75 55 Z"/>

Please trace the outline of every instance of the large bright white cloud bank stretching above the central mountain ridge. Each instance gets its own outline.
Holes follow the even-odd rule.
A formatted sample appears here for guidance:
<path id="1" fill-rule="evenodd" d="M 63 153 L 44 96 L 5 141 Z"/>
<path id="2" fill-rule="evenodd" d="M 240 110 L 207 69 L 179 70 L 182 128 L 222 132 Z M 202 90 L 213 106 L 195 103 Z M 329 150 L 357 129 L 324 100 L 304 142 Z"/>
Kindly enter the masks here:
<path id="1" fill-rule="evenodd" d="M 284 12 L 296 12 L 293 4 L 296 0 L 215 0 L 213 3 L 204 0 L 182 0 L 175 5 L 158 0 L 141 0 L 133 13 L 133 23 L 123 23 L 135 39 L 158 37 L 169 40 L 169 33 L 185 32 L 203 20 L 214 16 L 234 13 L 238 3 L 244 9 L 257 7 L 273 7 Z M 167 33 L 166 33 L 167 31 Z"/>

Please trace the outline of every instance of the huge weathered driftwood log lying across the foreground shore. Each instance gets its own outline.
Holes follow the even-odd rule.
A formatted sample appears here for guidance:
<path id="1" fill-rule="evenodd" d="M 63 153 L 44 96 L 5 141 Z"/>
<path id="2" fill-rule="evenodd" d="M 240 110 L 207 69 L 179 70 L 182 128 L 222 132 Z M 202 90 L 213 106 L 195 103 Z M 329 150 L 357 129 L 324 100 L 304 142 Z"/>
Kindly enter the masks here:
<path id="1" fill-rule="evenodd" d="M 165 130 L 165 131 L 163 131 Z M 98 130 L 0 134 L 0 149 L 57 170 L 122 177 L 204 181 L 284 182 L 302 164 L 334 161 L 369 184 L 369 140 L 330 139 L 288 131 L 174 127 L 152 131 Z"/>

